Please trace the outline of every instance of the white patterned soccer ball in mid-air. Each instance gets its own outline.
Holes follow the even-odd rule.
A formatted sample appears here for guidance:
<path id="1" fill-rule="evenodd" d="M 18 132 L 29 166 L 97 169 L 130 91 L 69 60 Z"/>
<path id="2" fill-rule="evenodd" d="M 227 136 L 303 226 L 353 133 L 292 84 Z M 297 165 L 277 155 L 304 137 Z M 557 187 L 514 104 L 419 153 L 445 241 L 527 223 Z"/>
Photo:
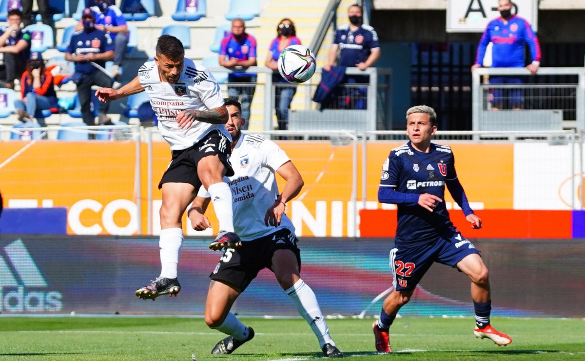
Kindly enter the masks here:
<path id="1" fill-rule="evenodd" d="M 278 57 L 278 73 L 286 81 L 305 82 L 315 74 L 315 55 L 302 45 L 288 46 Z"/>

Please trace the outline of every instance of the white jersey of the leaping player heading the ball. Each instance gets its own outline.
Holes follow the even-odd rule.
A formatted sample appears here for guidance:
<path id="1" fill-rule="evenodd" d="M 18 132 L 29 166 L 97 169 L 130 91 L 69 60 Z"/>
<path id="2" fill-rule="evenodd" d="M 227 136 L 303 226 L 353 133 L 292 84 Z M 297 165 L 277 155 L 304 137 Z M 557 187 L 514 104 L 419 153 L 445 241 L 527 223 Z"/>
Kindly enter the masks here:
<path id="1" fill-rule="evenodd" d="M 205 111 L 223 105 L 217 81 L 201 64 L 185 58 L 179 80 L 171 84 L 161 81 L 159 67 L 154 61 L 147 61 L 138 70 L 138 80 L 159 119 L 160 135 L 171 145 L 171 149 L 187 149 L 214 129 L 231 141 L 232 137 L 223 124 L 195 121 L 187 129 L 178 126 L 176 117 L 183 110 Z"/>

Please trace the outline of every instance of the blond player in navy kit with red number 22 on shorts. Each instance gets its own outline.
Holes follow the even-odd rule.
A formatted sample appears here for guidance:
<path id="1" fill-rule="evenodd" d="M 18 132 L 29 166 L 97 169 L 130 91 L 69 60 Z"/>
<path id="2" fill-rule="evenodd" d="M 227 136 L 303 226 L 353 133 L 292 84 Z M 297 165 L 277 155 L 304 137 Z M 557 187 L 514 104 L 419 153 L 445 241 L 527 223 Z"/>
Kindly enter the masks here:
<path id="1" fill-rule="evenodd" d="M 445 185 L 463 210 L 472 228 L 481 219 L 469 207 L 457 179 L 455 158 L 449 146 L 431 143 L 436 132 L 436 113 L 420 105 L 407 111 L 408 143 L 390 152 L 384 162 L 378 201 L 398 205 L 398 226 L 390 267 L 394 290 L 384 300 L 380 318 L 374 321 L 376 349 L 392 352 L 388 331 L 398 310 L 410 300 L 422 276 L 433 262 L 455 267 L 472 280 L 476 315 L 473 333 L 497 345 L 508 345 L 510 336 L 490 325 L 490 281 L 479 251 L 457 231 L 445 207 Z"/>

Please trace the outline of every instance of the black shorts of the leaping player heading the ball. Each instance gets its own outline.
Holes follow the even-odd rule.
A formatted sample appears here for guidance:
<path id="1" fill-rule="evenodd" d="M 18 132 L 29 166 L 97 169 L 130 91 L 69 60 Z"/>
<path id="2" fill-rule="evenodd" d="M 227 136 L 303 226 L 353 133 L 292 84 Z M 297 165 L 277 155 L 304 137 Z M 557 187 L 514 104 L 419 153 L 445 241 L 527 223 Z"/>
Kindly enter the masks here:
<path id="1" fill-rule="evenodd" d="M 202 158 L 215 154 L 226 168 L 225 176 L 233 176 L 233 169 L 229 164 L 232 148 L 229 139 L 219 130 L 207 133 L 203 139 L 187 149 L 173 150 L 172 153 L 173 159 L 160 180 L 159 189 L 163 187 L 163 183 L 189 183 L 195 187 L 195 191 L 199 190 L 201 181 L 197 175 L 197 164 Z"/>

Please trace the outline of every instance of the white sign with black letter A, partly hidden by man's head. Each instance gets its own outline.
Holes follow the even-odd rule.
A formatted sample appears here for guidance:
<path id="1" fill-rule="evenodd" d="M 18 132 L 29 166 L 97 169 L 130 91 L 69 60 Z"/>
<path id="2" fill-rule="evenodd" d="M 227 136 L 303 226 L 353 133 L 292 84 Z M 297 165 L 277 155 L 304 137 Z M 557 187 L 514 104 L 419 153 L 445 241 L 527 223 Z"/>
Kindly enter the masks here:
<path id="1" fill-rule="evenodd" d="M 538 30 L 538 1 L 512 0 L 512 13 L 528 20 Z M 448 33 L 483 33 L 487 24 L 500 16 L 498 0 L 448 0 Z"/>

